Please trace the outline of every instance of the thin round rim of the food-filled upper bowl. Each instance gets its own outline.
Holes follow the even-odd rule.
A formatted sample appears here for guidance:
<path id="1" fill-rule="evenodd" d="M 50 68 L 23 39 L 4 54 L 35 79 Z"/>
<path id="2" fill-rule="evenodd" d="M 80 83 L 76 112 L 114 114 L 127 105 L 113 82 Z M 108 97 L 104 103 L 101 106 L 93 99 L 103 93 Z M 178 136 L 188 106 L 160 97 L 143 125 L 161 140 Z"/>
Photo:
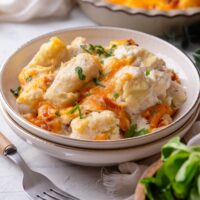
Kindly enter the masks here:
<path id="1" fill-rule="evenodd" d="M 173 46 L 172 44 L 170 44 L 169 42 L 161 39 L 161 38 L 158 38 L 156 36 L 153 36 L 153 35 L 150 35 L 150 34 L 147 34 L 147 33 L 144 33 L 144 32 L 141 32 L 141 31 L 136 31 L 136 30 L 132 30 L 132 29 L 127 29 L 127 28 L 120 28 L 120 27 L 112 27 L 112 26 L 83 26 L 83 27 L 72 27 L 72 28 L 64 28 L 64 29 L 58 29 L 56 31 L 51 31 L 51 32 L 48 32 L 48 33 L 45 33 L 45 34 L 42 34 L 40 36 L 37 36 L 27 42 L 25 42 L 24 44 L 22 44 L 21 46 L 19 46 L 13 53 L 11 53 L 11 55 L 9 57 L 7 57 L 7 59 L 3 62 L 2 64 L 2 67 L 1 67 L 1 70 L 0 70 L 0 99 L 2 101 L 2 103 L 4 104 L 6 110 L 9 110 L 13 116 L 15 116 L 15 118 L 17 118 L 19 121 L 21 121 L 23 124 L 26 124 L 27 126 L 35 129 L 37 132 L 42 132 L 43 134 L 45 135 L 52 135 L 53 132 L 51 131 L 47 131 L 47 130 L 44 130 L 32 123 L 30 123 L 28 120 L 26 120 L 25 118 L 22 117 L 22 115 L 18 114 L 17 112 L 15 112 L 15 110 L 12 108 L 12 106 L 7 102 L 7 99 L 4 95 L 4 92 L 3 92 L 3 72 L 7 66 L 7 63 L 10 61 L 10 59 L 12 59 L 17 53 L 18 51 L 22 50 L 23 48 L 31 45 L 31 43 L 33 42 L 36 42 L 38 41 L 39 39 L 44 39 L 46 37 L 51 37 L 53 34 L 57 34 L 57 33 L 64 33 L 64 32 L 68 32 L 68 31 L 81 31 L 81 30 L 88 30 L 88 29 L 91 29 L 91 30 L 95 30 L 95 29 L 104 29 L 104 30 L 121 30 L 121 31 L 131 31 L 131 32 L 135 32 L 135 33 L 138 33 L 138 34 L 141 34 L 143 36 L 148 36 L 150 38 L 154 38 L 154 39 L 157 39 L 163 43 L 165 43 L 166 45 L 170 46 L 171 48 L 174 48 L 176 51 L 178 51 L 180 54 L 182 54 L 183 56 L 186 56 L 189 61 L 191 62 L 191 64 L 194 66 L 194 69 L 196 70 L 197 74 L 198 74 L 198 78 L 199 78 L 199 82 L 200 82 L 200 70 L 198 69 L 198 67 L 194 64 L 194 62 L 192 61 L 192 59 L 187 56 L 185 53 L 183 53 L 180 49 L 178 49 L 177 47 Z M 199 88 L 200 89 L 200 88 Z M 159 132 L 161 132 L 163 129 L 168 129 L 170 128 L 170 126 L 173 126 L 175 125 L 175 123 L 178 123 L 180 122 L 182 119 L 184 119 L 189 113 L 191 110 L 193 110 L 196 106 L 196 104 L 200 104 L 200 92 L 198 93 L 198 97 L 196 99 L 196 101 L 194 102 L 193 106 L 188 109 L 188 111 L 185 113 L 185 115 L 181 116 L 179 119 L 173 121 L 171 124 L 169 124 L 168 126 L 165 126 L 163 127 L 162 129 L 160 130 L 157 130 L 151 134 L 147 134 L 147 135 L 142 135 L 142 136 L 137 136 L 137 137 L 131 137 L 131 138 L 122 138 L 122 139 L 119 139 L 119 140 L 102 140 L 102 141 L 96 141 L 96 140 L 86 140 L 86 139 L 75 139 L 75 138 L 70 138 L 68 136 L 65 136 L 65 135 L 59 135 L 59 134 L 54 134 L 55 137 L 59 137 L 59 138 L 63 138 L 63 139 L 67 139 L 67 140 L 71 140 L 71 141 L 80 141 L 80 142 L 84 142 L 84 143 L 88 143 L 88 142 L 93 142 L 93 143 L 99 143 L 99 144 L 103 144 L 103 143 L 117 143 L 117 142 L 123 142 L 123 141 L 127 141 L 127 140 L 133 140 L 133 139 L 141 139 L 141 138 L 148 138 L 148 137 L 152 137 L 152 135 L 154 134 L 157 134 Z"/>

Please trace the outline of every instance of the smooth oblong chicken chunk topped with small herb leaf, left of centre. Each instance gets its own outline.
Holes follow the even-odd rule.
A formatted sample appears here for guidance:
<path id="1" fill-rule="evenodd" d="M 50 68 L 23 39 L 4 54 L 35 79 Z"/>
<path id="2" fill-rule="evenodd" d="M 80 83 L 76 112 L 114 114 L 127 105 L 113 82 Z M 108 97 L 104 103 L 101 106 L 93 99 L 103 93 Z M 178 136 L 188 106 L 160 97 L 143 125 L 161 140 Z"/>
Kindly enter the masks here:
<path id="1" fill-rule="evenodd" d="M 82 74 L 85 76 L 84 80 L 80 79 L 76 71 L 77 67 L 82 70 Z M 79 54 L 61 66 L 44 98 L 58 106 L 70 104 L 73 97 L 76 100 L 77 92 L 98 76 L 100 67 L 96 57 L 88 53 Z"/>

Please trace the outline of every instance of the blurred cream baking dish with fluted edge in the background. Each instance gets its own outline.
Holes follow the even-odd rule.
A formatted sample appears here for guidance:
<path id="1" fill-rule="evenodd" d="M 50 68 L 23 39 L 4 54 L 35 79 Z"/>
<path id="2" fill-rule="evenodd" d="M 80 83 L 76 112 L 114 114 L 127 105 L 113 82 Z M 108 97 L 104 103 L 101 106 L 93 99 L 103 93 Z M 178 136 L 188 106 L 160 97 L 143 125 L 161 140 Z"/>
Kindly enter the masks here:
<path id="1" fill-rule="evenodd" d="M 145 10 L 106 3 L 103 0 L 78 0 L 84 13 L 95 22 L 163 35 L 200 19 L 200 8 L 186 10 Z"/>

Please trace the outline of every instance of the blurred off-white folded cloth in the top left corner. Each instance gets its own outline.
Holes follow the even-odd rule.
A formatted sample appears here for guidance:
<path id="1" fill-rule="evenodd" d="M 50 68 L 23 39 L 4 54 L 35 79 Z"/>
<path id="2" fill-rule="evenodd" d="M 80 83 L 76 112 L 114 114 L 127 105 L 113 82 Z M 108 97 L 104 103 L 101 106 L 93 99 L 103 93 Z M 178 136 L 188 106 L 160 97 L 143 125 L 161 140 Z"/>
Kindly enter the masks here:
<path id="1" fill-rule="evenodd" d="M 72 0 L 0 0 L 0 21 L 24 22 L 34 18 L 64 17 Z"/>

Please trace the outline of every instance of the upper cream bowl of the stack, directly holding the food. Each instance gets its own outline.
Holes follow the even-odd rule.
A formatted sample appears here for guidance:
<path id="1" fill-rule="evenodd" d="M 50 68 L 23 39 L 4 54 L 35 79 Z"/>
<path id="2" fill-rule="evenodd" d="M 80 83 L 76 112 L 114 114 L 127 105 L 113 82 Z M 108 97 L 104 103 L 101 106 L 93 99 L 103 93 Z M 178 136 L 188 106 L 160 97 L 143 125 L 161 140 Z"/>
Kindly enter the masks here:
<path id="1" fill-rule="evenodd" d="M 19 83 L 17 77 L 20 70 L 30 61 L 31 57 L 36 53 L 39 46 L 54 35 L 57 35 L 66 43 L 71 42 L 76 36 L 83 36 L 86 37 L 90 43 L 100 43 L 105 45 L 113 39 L 133 38 L 142 47 L 147 48 L 148 50 L 162 57 L 166 61 L 167 65 L 178 73 L 179 77 L 181 78 L 182 85 L 185 87 L 187 92 L 187 101 L 175 116 L 173 123 L 168 127 L 152 134 L 135 138 L 114 141 L 77 140 L 56 135 L 34 126 L 25 120 L 18 112 L 15 98 L 10 93 L 10 89 L 18 86 Z M 198 71 L 191 60 L 180 50 L 159 38 L 128 29 L 112 27 L 85 27 L 52 32 L 31 40 L 20 47 L 8 58 L 2 67 L 0 90 L 3 106 L 10 116 L 18 124 L 20 124 L 20 126 L 36 136 L 69 146 L 94 149 L 113 149 L 150 143 L 163 138 L 180 128 L 197 109 L 199 104 L 200 81 Z"/>

